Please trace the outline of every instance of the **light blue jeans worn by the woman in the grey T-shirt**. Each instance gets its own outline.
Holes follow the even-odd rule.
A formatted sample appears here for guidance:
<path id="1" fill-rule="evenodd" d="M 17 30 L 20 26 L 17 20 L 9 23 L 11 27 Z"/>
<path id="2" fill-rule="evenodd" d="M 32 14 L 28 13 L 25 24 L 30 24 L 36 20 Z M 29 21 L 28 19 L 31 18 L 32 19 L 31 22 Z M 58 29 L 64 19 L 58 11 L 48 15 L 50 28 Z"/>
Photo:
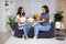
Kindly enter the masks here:
<path id="1" fill-rule="evenodd" d="M 34 36 L 37 37 L 38 31 L 48 31 L 51 25 L 41 25 L 38 23 L 34 24 Z"/>

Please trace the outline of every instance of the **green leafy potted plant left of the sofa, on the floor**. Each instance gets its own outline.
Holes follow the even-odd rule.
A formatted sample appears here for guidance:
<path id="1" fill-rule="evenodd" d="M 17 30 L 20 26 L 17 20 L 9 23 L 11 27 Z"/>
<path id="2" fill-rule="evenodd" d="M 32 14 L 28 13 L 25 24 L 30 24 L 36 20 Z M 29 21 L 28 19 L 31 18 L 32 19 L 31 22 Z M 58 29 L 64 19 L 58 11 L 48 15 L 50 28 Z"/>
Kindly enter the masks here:
<path id="1" fill-rule="evenodd" d="M 15 16 L 14 15 L 8 15 L 8 24 L 11 28 L 11 34 L 14 32 L 14 22 L 15 22 Z"/>

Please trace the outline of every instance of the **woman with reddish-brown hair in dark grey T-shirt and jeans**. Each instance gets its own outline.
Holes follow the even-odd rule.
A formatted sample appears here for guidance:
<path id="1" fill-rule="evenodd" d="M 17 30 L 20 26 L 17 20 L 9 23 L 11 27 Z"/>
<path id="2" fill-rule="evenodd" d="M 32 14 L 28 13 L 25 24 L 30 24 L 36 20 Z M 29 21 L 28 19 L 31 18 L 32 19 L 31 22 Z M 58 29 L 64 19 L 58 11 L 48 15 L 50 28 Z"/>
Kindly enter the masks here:
<path id="1" fill-rule="evenodd" d="M 48 12 L 48 7 L 43 6 L 41 18 L 36 20 L 37 23 L 34 25 L 34 38 L 37 37 L 38 31 L 48 31 L 51 29 Z"/>

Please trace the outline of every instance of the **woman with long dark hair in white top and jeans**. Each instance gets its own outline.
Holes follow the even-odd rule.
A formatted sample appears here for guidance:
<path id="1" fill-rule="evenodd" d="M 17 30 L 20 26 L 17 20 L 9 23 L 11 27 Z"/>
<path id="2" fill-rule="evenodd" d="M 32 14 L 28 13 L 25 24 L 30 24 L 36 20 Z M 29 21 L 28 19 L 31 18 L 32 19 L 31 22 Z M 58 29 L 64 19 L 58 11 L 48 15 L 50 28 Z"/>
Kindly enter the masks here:
<path id="1" fill-rule="evenodd" d="M 18 29 L 19 30 L 23 30 L 24 32 L 24 35 L 23 37 L 24 38 L 28 38 L 28 32 L 30 30 L 30 24 L 28 23 L 28 20 L 26 20 L 26 16 L 25 16 L 25 12 L 24 12 L 24 9 L 23 7 L 20 7 L 19 10 L 18 10 L 18 13 L 16 13 L 16 19 L 18 19 Z"/>

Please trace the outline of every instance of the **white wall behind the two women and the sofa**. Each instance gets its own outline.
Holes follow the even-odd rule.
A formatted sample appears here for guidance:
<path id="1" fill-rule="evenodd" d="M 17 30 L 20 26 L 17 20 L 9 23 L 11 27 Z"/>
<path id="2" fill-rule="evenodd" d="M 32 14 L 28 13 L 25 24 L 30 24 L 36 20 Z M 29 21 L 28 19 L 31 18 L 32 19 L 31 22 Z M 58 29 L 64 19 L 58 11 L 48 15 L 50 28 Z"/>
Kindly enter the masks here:
<path id="1" fill-rule="evenodd" d="M 0 0 L 0 31 L 7 31 L 7 15 L 14 15 L 19 7 L 24 7 L 26 16 L 32 16 L 34 12 L 41 14 L 41 7 L 44 4 L 48 6 L 50 14 L 53 18 L 52 13 L 56 11 L 56 0 L 13 0 L 8 11 L 6 11 L 4 0 Z"/>

